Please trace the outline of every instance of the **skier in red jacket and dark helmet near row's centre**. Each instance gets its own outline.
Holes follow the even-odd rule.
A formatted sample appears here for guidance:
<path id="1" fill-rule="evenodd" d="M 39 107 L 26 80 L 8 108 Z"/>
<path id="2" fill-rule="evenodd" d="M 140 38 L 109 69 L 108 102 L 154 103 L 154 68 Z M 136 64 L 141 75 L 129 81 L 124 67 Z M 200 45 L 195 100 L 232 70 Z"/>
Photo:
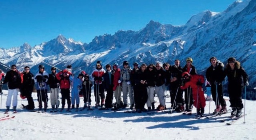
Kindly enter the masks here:
<path id="1" fill-rule="evenodd" d="M 120 72 L 120 68 L 118 68 L 117 63 L 114 63 L 112 67 L 113 67 L 112 74 L 114 76 L 113 91 L 114 91 L 114 96 L 115 96 L 115 99 L 116 99 L 116 105 L 114 105 L 114 109 L 118 110 L 118 109 L 120 109 L 124 106 L 123 99 L 121 98 L 121 90 L 122 90 L 121 89 L 122 81 L 120 80 L 121 72 Z"/>

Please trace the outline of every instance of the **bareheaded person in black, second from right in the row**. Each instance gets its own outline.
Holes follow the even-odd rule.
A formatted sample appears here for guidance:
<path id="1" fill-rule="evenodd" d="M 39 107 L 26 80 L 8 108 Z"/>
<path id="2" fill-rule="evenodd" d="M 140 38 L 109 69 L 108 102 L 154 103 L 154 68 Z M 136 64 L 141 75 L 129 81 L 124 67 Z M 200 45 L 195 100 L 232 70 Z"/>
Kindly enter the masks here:
<path id="1" fill-rule="evenodd" d="M 227 104 L 223 98 L 222 81 L 224 80 L 224 64 L 218 62 L 216 57 L 210 58 L 211 66 L 206 70 L 206 79 L 210 82 L 212 99 L 216 104 L 214 113 L 219 112 L 221 114 L 227 112 Z M 217 86 L 217 87 L 216 87 Z M 216 89 L 217 88 L 217 89 Z M 217 95 L 216 95 L 217 91 Z M 218 98 L 216 98 L 218 97 Z M 221 108 L 220 108 L 221 105 Z"/>

